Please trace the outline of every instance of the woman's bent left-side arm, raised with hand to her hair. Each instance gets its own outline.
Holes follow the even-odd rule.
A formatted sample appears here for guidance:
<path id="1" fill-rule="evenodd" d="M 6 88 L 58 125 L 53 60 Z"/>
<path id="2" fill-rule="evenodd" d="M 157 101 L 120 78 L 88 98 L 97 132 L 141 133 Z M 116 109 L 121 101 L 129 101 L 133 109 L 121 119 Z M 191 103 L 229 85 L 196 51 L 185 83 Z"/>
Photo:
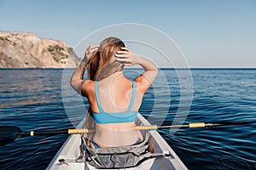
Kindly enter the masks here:
<path id="1" fill-rule="evenodd" d="M 86 69 L 86 65 L 88 59 L 90 59 L 91 55 L 98 49 L 98 45 L 90 45 L 89 48 L 86 49 L 84 59 L 82 59 L 81 63 L 79 64 L 78 68 L 73 72 L 73 75 L 70 79 L 70 85 L 72 88 L 80 95 L 87 96 L 86 93 L 86 86 L 84 83 L 90 82 L 90 80 L 83 80 L 84 71 Z M 82 87 L 84 87 L 82 89 Z"/>

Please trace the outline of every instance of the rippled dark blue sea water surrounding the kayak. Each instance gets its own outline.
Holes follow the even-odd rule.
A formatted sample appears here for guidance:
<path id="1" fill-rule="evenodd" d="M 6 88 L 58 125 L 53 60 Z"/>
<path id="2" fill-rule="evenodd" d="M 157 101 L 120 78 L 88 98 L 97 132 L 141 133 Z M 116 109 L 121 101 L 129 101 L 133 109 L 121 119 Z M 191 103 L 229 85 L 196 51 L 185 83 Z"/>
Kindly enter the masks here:
<path id="1" fill-rule="evenodd" d="M 75 103 L 79 96 L 61 93 L 69 89 L 61 84 L 67 81 L 62 73 L 0 69 L 0 125 L 23 131 L 73 128 L 84 113 Z M 125 71 L 127 77 L 138 74 Z M 160 70 L 140 112 L 158 125 L 256 120 L 256 70 Z M 159 132 L 189 169 L 256 169 L 256 123 Z M 67 137 L 24 137 L 0 146 L 0 169 L 45 169 Z"/>

